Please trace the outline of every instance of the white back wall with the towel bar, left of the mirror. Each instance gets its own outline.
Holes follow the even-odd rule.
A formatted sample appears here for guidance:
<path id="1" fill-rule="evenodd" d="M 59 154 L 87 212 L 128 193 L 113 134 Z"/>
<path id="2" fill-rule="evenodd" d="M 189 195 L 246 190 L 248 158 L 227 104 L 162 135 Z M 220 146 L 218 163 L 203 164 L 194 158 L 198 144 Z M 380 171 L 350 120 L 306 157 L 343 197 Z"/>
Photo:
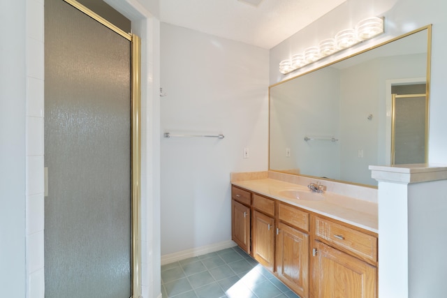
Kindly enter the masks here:
<path id="1" fill-rule="evenodd" d="M 161 24 L 161 254 L 228 241 L 230 172 L 266 170 L 268 50 Z M 250 157 L 242 158 L 244 147 Z"/>

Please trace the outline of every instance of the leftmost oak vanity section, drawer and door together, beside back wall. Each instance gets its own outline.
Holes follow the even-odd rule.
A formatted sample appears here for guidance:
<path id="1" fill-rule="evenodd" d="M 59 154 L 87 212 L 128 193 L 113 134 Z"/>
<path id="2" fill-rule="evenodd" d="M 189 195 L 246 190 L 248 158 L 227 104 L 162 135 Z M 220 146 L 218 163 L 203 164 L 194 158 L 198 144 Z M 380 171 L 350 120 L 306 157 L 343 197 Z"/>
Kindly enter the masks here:
<path id="1" fill-rule="evenodd" d="M 251 193 L 232 186 L 231 197 L 231 239 L 251 253 Z"/>

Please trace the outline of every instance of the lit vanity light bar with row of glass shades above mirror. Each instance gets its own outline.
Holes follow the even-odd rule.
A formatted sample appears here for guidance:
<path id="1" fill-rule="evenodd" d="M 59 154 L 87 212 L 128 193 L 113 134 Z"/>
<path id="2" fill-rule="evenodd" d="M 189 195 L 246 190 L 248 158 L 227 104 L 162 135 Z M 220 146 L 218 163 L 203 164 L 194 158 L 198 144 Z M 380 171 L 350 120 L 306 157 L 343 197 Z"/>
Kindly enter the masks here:
<path id="1" fill-rule="evenodd" d="M 364 40 L 368 40 L 383 33 L 383 18 L 369 17 L 357 23 L 354 29 L 339 31 L 335 38 L 322 40 L 318 47 L 307 47 L 303 54 L 294 54 L 291 59 L 279 63 L 279 72 L 291 73 L 307 64 L 318 61 L 335 52 L 352 47 Z"/>

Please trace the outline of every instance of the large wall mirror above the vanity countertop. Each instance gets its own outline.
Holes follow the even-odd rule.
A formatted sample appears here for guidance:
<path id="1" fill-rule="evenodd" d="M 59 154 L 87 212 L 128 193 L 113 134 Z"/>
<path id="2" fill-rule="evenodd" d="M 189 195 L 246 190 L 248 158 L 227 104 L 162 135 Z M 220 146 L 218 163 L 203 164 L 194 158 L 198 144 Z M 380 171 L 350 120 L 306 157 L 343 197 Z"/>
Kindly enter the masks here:
<path id="1" fill-rule="evenodd" d="M 427 162 L 431 25 L 270 87 L 270 170 L 376 186 Z"/>

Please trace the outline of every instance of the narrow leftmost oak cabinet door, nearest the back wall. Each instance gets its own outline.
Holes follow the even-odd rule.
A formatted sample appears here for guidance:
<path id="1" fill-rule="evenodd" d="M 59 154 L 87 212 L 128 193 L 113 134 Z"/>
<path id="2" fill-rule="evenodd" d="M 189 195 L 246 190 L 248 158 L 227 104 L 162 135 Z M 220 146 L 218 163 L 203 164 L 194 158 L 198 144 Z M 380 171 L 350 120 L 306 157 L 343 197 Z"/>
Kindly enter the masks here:
<path id="1" fill-rule="evenodd" d="M 250 253 L 250 208 L 231 200 L 231 237 L 244 251 Z"/>

